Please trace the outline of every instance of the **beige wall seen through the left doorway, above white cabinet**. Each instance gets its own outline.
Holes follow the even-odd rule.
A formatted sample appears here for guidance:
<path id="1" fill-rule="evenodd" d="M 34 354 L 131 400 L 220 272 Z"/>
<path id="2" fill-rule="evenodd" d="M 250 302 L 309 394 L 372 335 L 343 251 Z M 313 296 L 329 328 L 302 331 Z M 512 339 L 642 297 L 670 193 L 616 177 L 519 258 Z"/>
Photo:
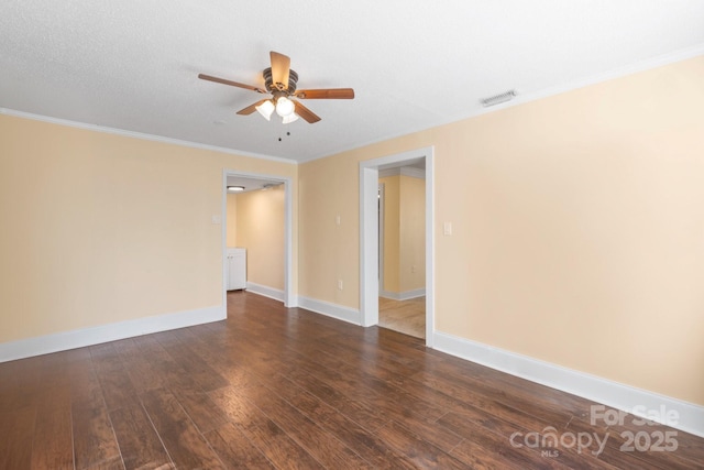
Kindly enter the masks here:
<path id="1" fill-rule="evenodd" d="M 246 249 L 246 280 L 284 291 L 284 185 L 237 195 L 237 245 Z"/>

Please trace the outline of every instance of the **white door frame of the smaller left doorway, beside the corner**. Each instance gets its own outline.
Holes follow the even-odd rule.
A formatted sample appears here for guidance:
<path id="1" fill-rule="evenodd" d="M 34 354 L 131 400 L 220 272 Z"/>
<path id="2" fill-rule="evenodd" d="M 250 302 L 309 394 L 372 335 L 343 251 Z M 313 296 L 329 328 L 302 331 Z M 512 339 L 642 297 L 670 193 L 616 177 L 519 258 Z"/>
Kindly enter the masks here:
<path id="1" fill-rule="evenodd" d="M 264 175 L 261 173 L 246 173 L 237 170 L 223 170 L 222 172 L 222 305 L 228 305 L 228 291 L 227 291 L 227 266 L 226 258 L 228 253 L 228 176 L 240 176 L 244 178 L 254 179 L 268 179 L 274 182 L 280 182 L 284 184 L 284 306 L 297 307 L 298 302 L 294 292 L 292 291 L 293 278 L 293 229 L 292 229 L 292 182 L 287 176 L 278 175 Z"/>

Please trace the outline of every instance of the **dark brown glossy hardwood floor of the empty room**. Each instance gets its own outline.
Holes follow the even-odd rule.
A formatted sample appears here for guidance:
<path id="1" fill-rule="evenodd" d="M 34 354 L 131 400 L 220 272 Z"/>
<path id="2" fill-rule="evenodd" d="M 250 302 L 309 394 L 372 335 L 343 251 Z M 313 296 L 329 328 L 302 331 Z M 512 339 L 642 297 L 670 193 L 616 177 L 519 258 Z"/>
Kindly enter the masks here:
<path id="1" fill-rule="evenodd" d="M 0 364 L 0 469 L 704 467 L 702 438 L 592 426 L 592 402 L 420 339 L 228 300 L 227 321 Z"/>

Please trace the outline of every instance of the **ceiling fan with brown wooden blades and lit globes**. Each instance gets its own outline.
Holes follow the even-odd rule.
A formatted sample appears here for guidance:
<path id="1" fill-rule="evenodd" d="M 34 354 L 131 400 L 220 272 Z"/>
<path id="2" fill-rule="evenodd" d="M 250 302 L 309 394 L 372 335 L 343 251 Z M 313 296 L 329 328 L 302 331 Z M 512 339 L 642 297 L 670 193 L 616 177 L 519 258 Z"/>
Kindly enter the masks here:
<path id="1" fill-rule="evenodd" d="M 240 84 L 224 78 L 218 78 L 206 74 L 198 74 L 202 80 L 216 81 L 218 84 L 230 85 L 244 88 L 258 94 L 271 94 L 272 98 L 263 99 L 238 111 L 238 114 L 249 116 L 258 111 L 267 121 L 272 113 L 276 111 L 283 118 L 284 124 L 294 122 L 298 117 L 304 118 L 309 123 L 320 121 L 311 110 L 302 106 L 298 99 L 352 99 L 354 90 L 352 88 L 323 88 L 314 90 L 297 90 L 298 74 L 290 69 L 290 58 L 284 54 L 272 51 L 270 53 L 272 66 L 264 69 L 264 84 L 266 89 L 251 85 Z"/>

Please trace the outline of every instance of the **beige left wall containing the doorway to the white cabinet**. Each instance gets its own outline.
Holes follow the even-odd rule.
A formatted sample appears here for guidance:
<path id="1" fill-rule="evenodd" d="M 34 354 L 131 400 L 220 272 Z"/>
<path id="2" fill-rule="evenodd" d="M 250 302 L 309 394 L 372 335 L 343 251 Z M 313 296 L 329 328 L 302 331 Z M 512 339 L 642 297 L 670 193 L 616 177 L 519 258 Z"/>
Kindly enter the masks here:
<path id="1" fill-rule="evenodd" d="M 0 342 L 221 305 L 223 168 L 297 181 L 292 164 L 0 116 Z"/>

